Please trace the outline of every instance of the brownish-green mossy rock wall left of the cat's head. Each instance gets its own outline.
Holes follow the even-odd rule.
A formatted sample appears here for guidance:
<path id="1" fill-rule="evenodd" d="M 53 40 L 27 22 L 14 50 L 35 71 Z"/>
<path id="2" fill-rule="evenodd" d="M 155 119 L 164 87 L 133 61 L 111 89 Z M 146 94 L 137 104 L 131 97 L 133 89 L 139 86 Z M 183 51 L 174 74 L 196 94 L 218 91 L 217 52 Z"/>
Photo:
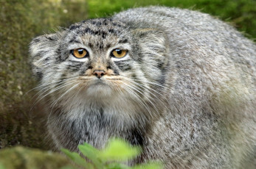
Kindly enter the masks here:
<path id="1" fill-rule="evenodd" d="M 43 107 L 28 63 L 33 37 L 86 18 L 85 1 L 0 0 L 0 148 L 44 147 Z M 33 108 L 32 108 L 33 107 Z"/>

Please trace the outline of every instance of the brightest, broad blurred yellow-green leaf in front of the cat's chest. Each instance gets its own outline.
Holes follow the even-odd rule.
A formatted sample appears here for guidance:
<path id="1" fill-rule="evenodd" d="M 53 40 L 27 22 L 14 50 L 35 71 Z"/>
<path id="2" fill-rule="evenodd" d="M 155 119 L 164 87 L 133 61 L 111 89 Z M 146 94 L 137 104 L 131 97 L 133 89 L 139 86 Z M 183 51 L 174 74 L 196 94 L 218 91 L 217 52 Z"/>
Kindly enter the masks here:
<path id="1" fill-rule="evenodd" d="M 138 147 L 132 147 L 125 140 L 111 139 L 106 148 L 101 151 L 100 157 L 105 161 L 125 161 L 133 159 L 139 153 Z"/>

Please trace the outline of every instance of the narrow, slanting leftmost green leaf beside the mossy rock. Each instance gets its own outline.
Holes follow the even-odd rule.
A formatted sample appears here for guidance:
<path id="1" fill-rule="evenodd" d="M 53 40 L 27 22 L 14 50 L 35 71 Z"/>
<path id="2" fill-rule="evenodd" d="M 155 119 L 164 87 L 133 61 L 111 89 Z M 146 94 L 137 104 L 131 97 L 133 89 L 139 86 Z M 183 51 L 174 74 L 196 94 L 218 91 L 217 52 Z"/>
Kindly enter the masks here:
<path id="1" fill-rule="evenodd" d="M 83 166 L 86 169 L 93 169 L 93 165 L 91 165 L 89 162 L 86 162 L 86 159 L 83 159 L 80 157 L 79 154 L 75 152 L 70 152 L 69 150 L 62 148 L 61 151 L 66 154 L 70 159 L 72 159 L 73 162 L 75 162 L 77 165 Z"/>

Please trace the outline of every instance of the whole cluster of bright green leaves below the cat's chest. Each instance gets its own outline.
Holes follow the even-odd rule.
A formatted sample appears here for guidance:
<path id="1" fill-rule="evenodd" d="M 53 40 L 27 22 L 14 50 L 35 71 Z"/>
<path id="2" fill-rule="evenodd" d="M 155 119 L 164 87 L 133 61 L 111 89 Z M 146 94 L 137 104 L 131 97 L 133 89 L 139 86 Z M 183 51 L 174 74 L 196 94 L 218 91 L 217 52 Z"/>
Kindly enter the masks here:
<path id="1" fill-rule="evenodd" d="M 129 143 L 120 139 L 111 139 L 108 145 L 103 150 L 98 150 L 91 145 L 84 143 L 78 146 L 80 152 L 84 157 L 89 159 L 83 159 L 78 153 L 70 152 L 67 149 L 62 149 L 73 162 L 75 162 L 80 167 L 86 169 L 160 169 L 162 165 L 157 162 L 148 162 L 143 165 L 136 165 L 134 167 L 128 167 L 122 162 L 129 161 L 136 158 L 140 149 L 138 147 L 132 147 Z M 63 169 L 63 168 L 62 168 Z M 66 168 L 68 169 L 68 168 Z M 74 169 L 74 167 L 69 167 L 69 169 Z"/>

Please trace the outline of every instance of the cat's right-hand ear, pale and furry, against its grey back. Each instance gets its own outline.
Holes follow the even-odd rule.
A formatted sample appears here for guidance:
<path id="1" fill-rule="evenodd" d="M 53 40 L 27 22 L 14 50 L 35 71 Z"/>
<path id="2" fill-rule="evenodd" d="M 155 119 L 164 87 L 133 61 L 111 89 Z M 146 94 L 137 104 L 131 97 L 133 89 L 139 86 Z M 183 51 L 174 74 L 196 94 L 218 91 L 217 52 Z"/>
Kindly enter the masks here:
<path id="1" fill-rule="evenodd" d="M 140 53 L 146 62 L 153 60 L 158 68 L 167 65 L 168 40 L 165 32 L 159 29 L 134 29 L 132 32 Z M 152 62 L 151 62 L 152 63 Z"/>

